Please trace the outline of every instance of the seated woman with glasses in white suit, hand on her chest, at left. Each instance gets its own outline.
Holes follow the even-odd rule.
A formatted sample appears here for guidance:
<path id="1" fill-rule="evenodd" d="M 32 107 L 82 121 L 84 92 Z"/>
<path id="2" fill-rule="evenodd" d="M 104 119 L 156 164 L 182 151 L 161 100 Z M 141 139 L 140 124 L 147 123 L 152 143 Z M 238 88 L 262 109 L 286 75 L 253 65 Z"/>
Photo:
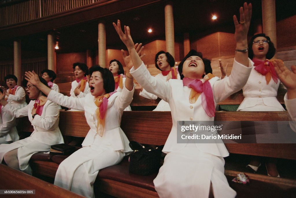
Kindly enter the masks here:
<path id="1" fill-rule="evenodd" d="M 47 82 L 37 78 L 48 88 Z M 50 89 L 50 88 L 49 88 Z M 30 157 L 41 151 L 49 151 L 53 144 L 64 143 L 62 134 L 59 130 L 59 109 L 58 105 L 49 101 L 42 91 L 31 83 L 26 87 L 31 102 L 17 109 L 4 100 L 4 94 L 0 93 L 0 102 L 4 106 L 2 111 L 10 113 L 15 117 L 28 116 L 32 123 L 34 131 L 30 137 L 13 142 L 11 144 L 0 145 L 0 161 L 3 158 L 9 167 L 32 174 L 29 165 Z"/>

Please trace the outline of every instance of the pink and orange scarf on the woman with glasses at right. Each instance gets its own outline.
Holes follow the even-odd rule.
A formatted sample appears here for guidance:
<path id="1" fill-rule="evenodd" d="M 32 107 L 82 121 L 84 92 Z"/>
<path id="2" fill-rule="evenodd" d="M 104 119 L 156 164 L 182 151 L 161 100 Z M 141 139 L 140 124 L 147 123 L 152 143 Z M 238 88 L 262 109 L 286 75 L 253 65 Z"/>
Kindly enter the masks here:
<path id="1" fill-rule="evenodd" d="M 254 62 L 255 70 L 265 76 L 267 84 L 271 80 L 271 77 L 274 82 L 277 83 L 276 71 L 274 70 L 274 64 L 271 61 L 268 59 L 262 61 L 255 58 L 253 58 L 252 61 Z"/>

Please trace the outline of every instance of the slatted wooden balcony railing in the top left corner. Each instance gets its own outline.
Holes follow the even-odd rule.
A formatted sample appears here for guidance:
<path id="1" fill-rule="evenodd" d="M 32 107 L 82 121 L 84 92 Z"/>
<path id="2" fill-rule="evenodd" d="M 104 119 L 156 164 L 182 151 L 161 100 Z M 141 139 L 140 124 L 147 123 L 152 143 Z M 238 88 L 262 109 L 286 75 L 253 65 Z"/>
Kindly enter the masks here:
<path id="1" fill-rule="evenodd" d="M 0 4 L 0 27 L 106 0 L 11 0 Z M 3 1 L 2 1 L 3 2 Z"/>

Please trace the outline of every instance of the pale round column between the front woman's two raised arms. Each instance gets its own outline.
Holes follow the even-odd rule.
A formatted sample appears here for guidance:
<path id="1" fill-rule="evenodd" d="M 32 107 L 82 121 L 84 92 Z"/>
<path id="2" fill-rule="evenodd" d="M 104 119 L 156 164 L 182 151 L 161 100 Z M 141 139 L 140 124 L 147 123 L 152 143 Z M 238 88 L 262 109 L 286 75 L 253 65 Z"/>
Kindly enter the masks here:
<path id="1" fill-rule="evenodd" d="M 171 1 L 165 6 L 165 47 L 166 51 L 175 57 L 174 17 Z"/>

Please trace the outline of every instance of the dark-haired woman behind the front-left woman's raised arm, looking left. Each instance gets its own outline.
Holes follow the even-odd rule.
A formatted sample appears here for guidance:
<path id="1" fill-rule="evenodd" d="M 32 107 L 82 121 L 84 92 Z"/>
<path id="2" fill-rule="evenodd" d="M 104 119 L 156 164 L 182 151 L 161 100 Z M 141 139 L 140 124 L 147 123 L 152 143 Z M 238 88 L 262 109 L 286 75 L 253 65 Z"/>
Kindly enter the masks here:
<path id="1" fill-rule="evenodd" d="M 115 90 L 121 92 L 126 81 L 124 70 L 121 62 L 116 59 L 110 61 L 108 69 L 112 72 L 115 81 Z M 131 111 L 131 106 L 128 105 L 125 111 Z"/>

